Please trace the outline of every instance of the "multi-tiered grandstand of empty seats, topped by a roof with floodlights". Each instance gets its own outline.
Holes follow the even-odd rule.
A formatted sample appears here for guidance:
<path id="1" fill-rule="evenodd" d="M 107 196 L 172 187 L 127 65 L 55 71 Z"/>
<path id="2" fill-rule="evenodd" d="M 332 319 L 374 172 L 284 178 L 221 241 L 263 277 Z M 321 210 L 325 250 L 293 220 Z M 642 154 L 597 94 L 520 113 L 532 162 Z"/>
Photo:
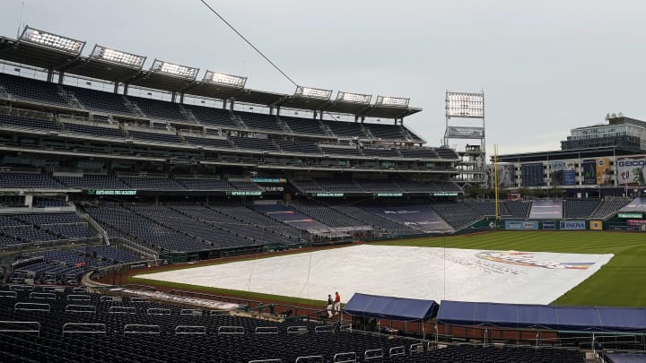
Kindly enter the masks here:
<path id="1" fill-rule="evenodd" d="M 460 156 L 404 125 L 421 111 L 406 98 L 251 90 L 245 77 L 207 70 L 199 81 L 196 67 L 154 59 L 144 69 L 145 56 L 100 45 L 83 56 L 84 46 L 29 27 L 0 39 L 6 213 L 78 212 L 92 238 L 137 255 L 204 259 L 426 234 L 428 224 L 385 216 L 402 211 L 362 208 L 462 194 Z M 67 239 L 8 219 L 33 236 L 7 229 L 4 246 Z"/>

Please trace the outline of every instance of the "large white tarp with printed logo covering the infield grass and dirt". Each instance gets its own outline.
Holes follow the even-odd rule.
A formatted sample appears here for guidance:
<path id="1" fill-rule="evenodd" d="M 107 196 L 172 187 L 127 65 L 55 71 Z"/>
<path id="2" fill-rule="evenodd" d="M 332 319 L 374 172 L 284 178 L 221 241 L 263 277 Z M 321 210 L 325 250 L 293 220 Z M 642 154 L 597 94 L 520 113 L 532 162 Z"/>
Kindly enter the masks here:
<path id="1" fill-rule="evenodd" d="M 413 246 L 348 246 L 137 277 L 325 300 L 339 291 L 422 298 L 549 304 L 613 257 Z"/>

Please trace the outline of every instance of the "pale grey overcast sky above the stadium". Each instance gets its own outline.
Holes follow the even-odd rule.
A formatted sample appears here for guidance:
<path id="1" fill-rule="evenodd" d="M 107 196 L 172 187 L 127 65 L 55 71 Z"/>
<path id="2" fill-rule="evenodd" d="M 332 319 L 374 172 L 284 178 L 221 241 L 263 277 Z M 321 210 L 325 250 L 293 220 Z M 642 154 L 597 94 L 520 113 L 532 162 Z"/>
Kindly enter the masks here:
<path id="1" fill-rule="evenodd" d="M 445 91 L 485 91 L 487 150 L 560 149 L 610 112 L 646 119 L 646 2 L 215 1 L 214 9 L 295 82 L 410 98 L 405 119 L 429 146 Z M 22 6 L 24 4 L 24 6 Z M 22 12 L 23 7 L 23 12 Z M 22 13 L 22 22 L 21 22 Z M 295 87 L 199 0 L 2 0 L 0 36 L 32 28 L 148 57 Z"/>

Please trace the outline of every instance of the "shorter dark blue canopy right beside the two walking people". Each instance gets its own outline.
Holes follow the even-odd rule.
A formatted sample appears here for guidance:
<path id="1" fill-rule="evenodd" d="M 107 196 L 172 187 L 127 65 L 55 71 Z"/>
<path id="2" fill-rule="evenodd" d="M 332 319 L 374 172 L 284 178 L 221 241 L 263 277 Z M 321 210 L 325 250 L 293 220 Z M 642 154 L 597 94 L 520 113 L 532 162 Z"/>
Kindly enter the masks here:
<path id="1" fill-rule="evenodd" d="M 438 304 L 433 300 L 393 298 L 356 292 L 345 305 L 344 311 L 350 315 L 403 322 L 424 321 L 437 315 Z"/>

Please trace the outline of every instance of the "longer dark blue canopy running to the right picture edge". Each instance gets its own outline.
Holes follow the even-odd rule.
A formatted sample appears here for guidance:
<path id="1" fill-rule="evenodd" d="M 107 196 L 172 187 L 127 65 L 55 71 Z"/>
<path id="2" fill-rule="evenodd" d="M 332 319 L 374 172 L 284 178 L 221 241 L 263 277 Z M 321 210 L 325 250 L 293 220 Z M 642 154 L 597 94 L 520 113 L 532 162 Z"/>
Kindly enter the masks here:
<path id="1" fill-rule="evenodd" d="M 577 332 L 646 332 L 646 309 L 550 307 L 442 300 L 441 324 L 540 328 Z"/>

